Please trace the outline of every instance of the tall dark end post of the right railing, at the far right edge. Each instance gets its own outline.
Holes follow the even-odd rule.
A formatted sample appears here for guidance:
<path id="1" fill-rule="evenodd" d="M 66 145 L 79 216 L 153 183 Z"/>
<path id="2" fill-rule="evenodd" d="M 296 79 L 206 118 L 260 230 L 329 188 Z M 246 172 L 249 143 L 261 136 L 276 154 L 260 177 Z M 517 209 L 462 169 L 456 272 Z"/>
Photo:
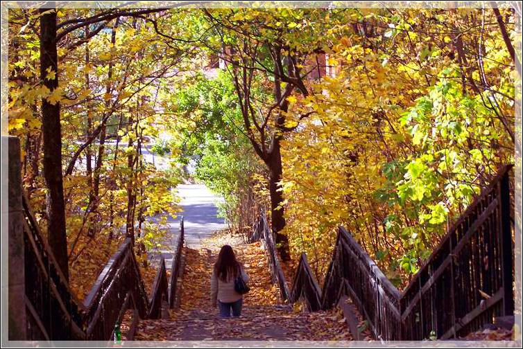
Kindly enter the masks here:
<path id="1" fill-rule="evenodd" d="M 503 313 L 505 316 L 514 314 L 511 188 L 509 181 L 507 170 L 499 183 L 499 208 L 501 208 L 501 270 L 503 275 Z"/>

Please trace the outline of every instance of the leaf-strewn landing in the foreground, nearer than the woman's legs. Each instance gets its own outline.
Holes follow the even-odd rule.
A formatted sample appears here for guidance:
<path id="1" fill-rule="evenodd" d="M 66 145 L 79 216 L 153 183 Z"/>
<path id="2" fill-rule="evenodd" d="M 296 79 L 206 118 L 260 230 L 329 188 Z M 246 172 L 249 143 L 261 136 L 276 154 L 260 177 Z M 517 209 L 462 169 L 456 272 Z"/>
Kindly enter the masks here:
<path id="1" fill-rule="evenodd" d="M 191 317 L 192 316 L 192 317 Z M 145 341 L 350 341 L 338 310 L 295 314 L 290 307 L 246 307 L 239 318 L 219 319 L 207 311 L 175 320 L 139 324 L 137 340 Z"/>

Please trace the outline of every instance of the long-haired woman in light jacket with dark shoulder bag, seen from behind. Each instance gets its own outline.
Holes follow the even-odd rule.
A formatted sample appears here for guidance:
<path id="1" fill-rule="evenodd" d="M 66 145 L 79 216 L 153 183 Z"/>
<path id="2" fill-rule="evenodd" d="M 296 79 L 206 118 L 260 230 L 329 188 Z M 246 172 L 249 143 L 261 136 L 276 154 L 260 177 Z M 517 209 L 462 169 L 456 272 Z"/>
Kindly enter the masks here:
<path id="1" fill-rule="evenodd" d="M 211 301 L 212 305 L 218 306 L 220 316 L 230 317 L 241 315 L 243 295 L 248 288 L 241 287 L 247 283 L 249 277 L 241 263 L 236 260 L 234 251 L 229 245 L 221 248 L 218 260 L 214 264 L 211 277 Z"/>

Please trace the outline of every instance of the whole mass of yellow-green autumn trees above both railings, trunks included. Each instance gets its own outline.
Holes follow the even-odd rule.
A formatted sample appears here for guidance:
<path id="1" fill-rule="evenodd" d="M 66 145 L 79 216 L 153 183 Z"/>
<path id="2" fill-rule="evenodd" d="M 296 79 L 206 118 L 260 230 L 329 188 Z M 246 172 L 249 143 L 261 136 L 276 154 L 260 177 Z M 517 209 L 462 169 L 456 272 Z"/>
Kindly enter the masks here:
<path id="1" fill-rule="evenodd" d="M 234 229 L 270 212 L 318 278 L 343 224 L 401 283 L 515 160 L 510 9 L 17 8 L 8 29 L 9 133 L 72 277 L 92 245 L 156 247 L 194 179 Z"/>

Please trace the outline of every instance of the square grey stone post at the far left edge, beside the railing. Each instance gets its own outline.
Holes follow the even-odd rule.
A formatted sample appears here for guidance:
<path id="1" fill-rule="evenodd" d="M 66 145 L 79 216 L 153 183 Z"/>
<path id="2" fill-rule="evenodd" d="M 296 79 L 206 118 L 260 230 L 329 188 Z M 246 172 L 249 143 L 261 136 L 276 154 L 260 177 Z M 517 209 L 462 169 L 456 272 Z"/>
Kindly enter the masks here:
<path id="1" fill-rule="evenodd" d="M 1 142 L 2 153 L 6 147 L 9 153 L 8 156 L 2 154 L 2 177 L 5 174 L 4 169 L 8 169 L 8 183 L 5 177 L 2 180 L 2 193 L 8 193 L 8 208 L 4 205 L 1 208 L 3 218 L 6 217 L 6 213 L 8 214 L 7 220 L 2 219 L 3 232 L 5 232 L 4 224 L 8 225 L 8 244 L 5 243 L 5 233 L 2 233 L 2 265 L 8 265 L 8 280 L 5 280 L 6 274 L 2 274 L 1 286 L 2 290 L 8 289 L 8 302 L 4 302 L 6 299 L 2 295 L 2 303 L 8 303 L 8 340 L 22 341 L 26 340 L 27 325 L 20 141 L 14 136 L 2 136 Z M 5 163 L 6 160 L 8 163 Z M 8 188 L 5 188 L 6 184 Z M 5 319 L 5 310 L 5 307 L 2 307 L 3 319 Z M 4 334 L 2 337 L 5 338 Z"/>

